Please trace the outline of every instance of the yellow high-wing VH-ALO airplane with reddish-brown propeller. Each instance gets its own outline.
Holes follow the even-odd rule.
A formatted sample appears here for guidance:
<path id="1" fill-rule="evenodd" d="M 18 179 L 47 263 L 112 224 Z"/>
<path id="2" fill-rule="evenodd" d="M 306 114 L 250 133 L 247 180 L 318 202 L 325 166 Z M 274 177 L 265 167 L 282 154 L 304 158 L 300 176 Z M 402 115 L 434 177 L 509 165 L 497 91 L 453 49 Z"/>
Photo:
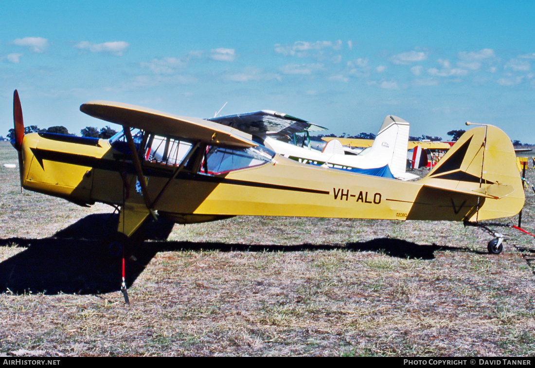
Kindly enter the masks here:
<path id="1" fill-rule="evenodd" d="M 126 237 L 149 216 L 175 223 L 265 215 L 478 226 L 514 216 L 524 204 L 511 141 L 491 125 L 466 132 L 424 178 L 401 182 L 301 164 L 249 134 L 203 119 L 106 101 L 80 110 L 122 125 L 123 132 L 109 140 L 24 135 L 14 92 L 21 185 L 82 206 L 112 205 L 119 209 L 118 233 Z M 488 250 L 500 253 L 503 237 L 492 234 Z"/>

